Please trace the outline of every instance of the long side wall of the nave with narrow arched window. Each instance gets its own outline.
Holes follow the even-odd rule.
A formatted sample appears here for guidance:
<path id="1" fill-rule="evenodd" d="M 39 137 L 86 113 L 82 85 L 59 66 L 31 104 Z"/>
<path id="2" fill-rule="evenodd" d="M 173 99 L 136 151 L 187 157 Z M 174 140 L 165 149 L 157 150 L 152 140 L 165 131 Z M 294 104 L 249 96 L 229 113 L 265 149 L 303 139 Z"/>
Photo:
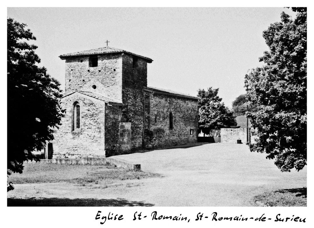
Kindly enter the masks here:
<path id="1" fill-rule="evenodd" d="M 197 100 L 154 93 L 150 96 L 150 130 L 154 147 L 197 142 Z M 169 113 L 173 114 L 173 129 L 169 129 Z M 190 135 L 190 129 L 194 132 Z"/>

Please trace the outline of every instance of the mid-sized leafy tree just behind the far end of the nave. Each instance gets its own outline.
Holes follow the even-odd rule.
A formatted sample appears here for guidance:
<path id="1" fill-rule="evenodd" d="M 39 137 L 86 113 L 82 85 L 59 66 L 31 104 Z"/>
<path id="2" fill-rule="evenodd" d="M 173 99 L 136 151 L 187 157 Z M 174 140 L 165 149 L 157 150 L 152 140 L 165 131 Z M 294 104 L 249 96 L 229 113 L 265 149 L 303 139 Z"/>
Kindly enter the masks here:
<path id="1" fill-rule="evenodd" d="M 208 130 L 212 128 L 221 128 L 227 126 L 235 126 L 236 119 L 225 104 L 219 98 L 218 88 L 208 88 L 198 90 L 198 125 L 200 129 Z"/>

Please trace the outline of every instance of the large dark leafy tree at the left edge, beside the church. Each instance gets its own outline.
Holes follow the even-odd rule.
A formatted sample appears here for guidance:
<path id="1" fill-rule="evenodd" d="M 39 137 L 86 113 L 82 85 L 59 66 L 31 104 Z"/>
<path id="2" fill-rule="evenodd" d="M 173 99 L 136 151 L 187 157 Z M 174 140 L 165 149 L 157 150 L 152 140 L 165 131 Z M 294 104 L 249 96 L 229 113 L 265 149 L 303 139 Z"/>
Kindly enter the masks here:
<path id="1" fill-rule="evenodd" d="M 60 83 L 51 78 L 35 54 L 36 40 L 30 29 L 14 19 L 7 19 L 8 79 L 8 175 L 22 173 L 23 162 L 38 159 L 32 154 L 52 140 L 52 128 L 60 124 L 64 110 Z M 8 182 L 8 191 L 14 189 Z"/>

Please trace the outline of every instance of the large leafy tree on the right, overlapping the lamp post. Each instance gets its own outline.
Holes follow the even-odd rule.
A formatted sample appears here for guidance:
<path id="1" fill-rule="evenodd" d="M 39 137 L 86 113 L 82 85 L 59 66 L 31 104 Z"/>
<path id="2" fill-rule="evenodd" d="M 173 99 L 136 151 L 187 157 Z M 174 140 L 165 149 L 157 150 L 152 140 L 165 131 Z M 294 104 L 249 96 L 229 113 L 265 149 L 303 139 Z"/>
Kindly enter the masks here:
<path id="1" fill-rule="evenodd" d="M 281 22 L 271 24 L 263 32 L 269 47 L 260 61 L 263 67 L 248 75 L 248 100 L 257 104 L 250 112 L 258 136 L 251 151 L 265 152 L 275 159 L 282 171 L 301 170 L 306 156 L 306 8 L 292 8 L 297 12 L 291 19 L 281 13 Z"/>

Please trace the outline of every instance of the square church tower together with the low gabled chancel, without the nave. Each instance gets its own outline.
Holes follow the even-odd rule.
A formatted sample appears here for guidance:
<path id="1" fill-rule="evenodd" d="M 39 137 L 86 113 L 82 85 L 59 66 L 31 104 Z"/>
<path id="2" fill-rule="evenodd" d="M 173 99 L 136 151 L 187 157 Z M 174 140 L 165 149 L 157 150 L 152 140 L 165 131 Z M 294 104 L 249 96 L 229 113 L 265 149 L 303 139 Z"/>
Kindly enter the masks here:
<path id="1" fill-rule="evenodd" d="M 59 56 L 65 60 L 67 110 L 55 132 L 55 157 L 116 154 L 142 148 L 147 63 L 134 53 L 103 47 Z"/>

